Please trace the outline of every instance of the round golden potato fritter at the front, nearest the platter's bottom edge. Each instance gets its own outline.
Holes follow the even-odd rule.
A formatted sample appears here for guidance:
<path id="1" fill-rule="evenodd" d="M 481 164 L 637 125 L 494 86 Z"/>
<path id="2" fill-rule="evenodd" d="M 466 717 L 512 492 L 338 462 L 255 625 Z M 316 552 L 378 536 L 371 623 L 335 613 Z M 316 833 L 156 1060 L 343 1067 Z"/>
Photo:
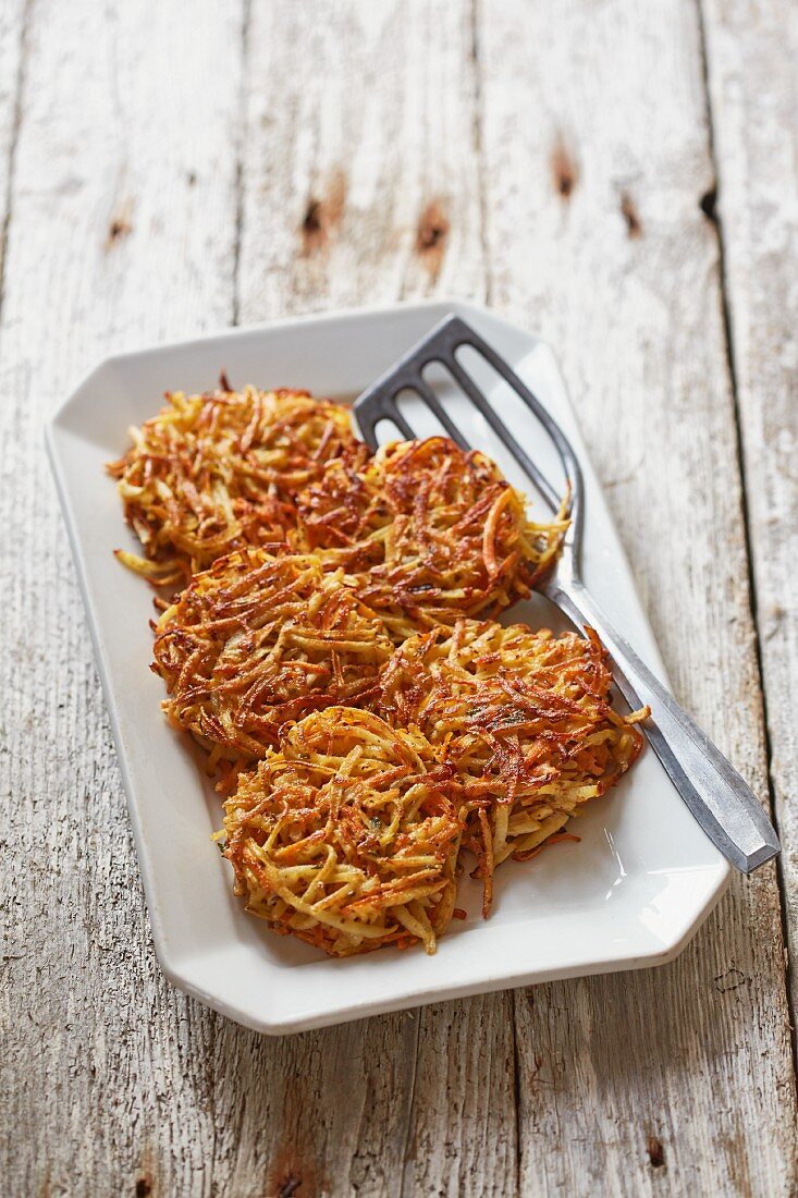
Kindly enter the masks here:
<path id="1" fill-rule="evenodd" d="M 332 956 L 421 942 L 454 912 L 461 824 L 418 731 L 327 708 L 241 774 L 225 804 L 236 893 L 274 931 Z"/>

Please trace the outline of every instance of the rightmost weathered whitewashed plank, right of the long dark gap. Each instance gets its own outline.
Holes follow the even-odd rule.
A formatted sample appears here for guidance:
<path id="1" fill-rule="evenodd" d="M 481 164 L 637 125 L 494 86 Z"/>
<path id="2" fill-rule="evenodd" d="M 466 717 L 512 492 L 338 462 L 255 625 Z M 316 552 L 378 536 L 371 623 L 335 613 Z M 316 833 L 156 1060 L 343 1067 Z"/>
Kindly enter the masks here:
<path id="1" fill-rule="evenodd" d="M 798 1010 L 798 26 L 794 7 L 703 4 L 770 775 Z"/>

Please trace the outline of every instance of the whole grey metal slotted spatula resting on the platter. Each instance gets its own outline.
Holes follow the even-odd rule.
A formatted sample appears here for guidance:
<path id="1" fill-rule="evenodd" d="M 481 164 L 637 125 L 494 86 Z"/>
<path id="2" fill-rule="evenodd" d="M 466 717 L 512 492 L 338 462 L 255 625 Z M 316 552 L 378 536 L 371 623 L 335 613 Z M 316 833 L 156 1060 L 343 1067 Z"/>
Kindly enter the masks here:
<path id="1" fill-rule="evenodd" d="M 482 412 L 552 512 L 558 512 L 561 496 L 556 488 L 518 443 L 458 361 L 457 351 L 466 346 L 476 350 L 501 375 L 543 425 L 566 474 L 570 525 L 558 562 L 538 583 L 538 591 L 579 628 L 596 629 L 611 655 L 613 677 L 627 702 L 633 708 L 643 704 L 651 708 L 651 719 L 643 724 L 643 731 L 676 789 L 720 852 L 738 870 L 751 873 L 780 852 L 775 830 L 739 774 L 640 660 L 587 592 L 580 577 L 585 495 L 579 460 L 560 425 L 515 371 L 464 320 L 448 316 L 356 401 L 355 416 L 364 440 L 371 448 L 377 447 L 376 426 L 381 420 L 392 422 L 409 440 L 416 436 L 397 404 L 397 397 L 410 391 L 431 410 L 460 448 L 470 448 L 451 413 L 424 379 L 427 367 L 436 363 L 448 371 Z"/>

